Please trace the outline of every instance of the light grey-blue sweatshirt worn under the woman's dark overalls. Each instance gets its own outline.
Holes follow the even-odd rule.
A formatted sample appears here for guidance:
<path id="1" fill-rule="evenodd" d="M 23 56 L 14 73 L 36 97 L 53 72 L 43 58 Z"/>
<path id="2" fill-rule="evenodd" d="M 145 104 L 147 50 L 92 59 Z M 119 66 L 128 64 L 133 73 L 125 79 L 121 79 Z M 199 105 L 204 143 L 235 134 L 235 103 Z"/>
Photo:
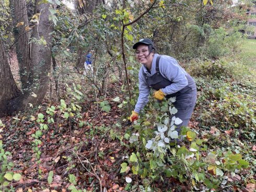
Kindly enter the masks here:
<path id="1" fill-rule="evenodd" d="M 134 111 L 139 113 L 143 110 L 144 106 L 148 102 L 148 95 L 150 92 L 150 87 L 147 85 L 143 73 L 146 73 L 148 77 L 153 76 L 156 73 L 156 58 L 159 54 L 154 54 L 152 67 L 150 73 L 148 73 L 147 68 L 142 65 L 139 70 L 138 80 L 139 80 L 139 95 L 138 100 L 135 105 Z M 159 60 L 159 70 L 161 75 L 171 81 L 171 85 L 162 88 L 162 92 L 167 94 L 176 93 L 188 85 L 188 80 L 185 77 L 187 72 L 178 64 L 176 59 L 168 56 L 162 55 Z"/>

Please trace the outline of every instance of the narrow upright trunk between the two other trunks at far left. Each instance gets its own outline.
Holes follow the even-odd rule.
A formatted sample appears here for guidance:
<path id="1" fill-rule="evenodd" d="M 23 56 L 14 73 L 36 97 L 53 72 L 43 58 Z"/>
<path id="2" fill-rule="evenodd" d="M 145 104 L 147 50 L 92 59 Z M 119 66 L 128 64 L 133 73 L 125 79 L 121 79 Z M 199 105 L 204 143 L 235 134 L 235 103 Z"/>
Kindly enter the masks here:
<path id="1" fill-rule="evenodd" d="M 29 49 L 29 38 L 31 36 L 26 1 L 9 0 L 11 16 L 13 18 L 13 32 L 15 37 L 16 54 L 19 63 L 19 75 L 21 89 L 23 92 L 29 91 L 29 82 L 32 78 L 31 59 Z M 17 25 L 18 24 L 18 25 Z M 26 30 L 27 29 L 27 30 Z"/>

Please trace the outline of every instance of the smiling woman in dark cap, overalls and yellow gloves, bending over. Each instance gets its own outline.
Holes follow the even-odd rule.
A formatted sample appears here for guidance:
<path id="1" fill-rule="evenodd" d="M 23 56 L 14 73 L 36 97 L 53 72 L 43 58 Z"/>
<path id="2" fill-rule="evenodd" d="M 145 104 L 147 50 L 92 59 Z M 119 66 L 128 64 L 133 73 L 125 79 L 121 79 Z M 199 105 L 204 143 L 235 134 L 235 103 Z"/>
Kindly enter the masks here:
<path id="1" fill-rule="evenodd" d="M 196 102 L 196 86 L 192 77 L 178 64 L 176 59 L 155 53 L 154 43 L 150 39 L 141 39 L 133 45 L 136 50 L 136 59 L 143 64 L 139 70 L 139 96 L 135 109 L 130 116 L 133 122 L 139 112 L 148 102 L 150 89 L 156 90 L 153 97 L 162 101 L 176 97 L 174 106 L 178 110 L 175 114 L 182 120 L 177 126 L 187 126 Z"/>

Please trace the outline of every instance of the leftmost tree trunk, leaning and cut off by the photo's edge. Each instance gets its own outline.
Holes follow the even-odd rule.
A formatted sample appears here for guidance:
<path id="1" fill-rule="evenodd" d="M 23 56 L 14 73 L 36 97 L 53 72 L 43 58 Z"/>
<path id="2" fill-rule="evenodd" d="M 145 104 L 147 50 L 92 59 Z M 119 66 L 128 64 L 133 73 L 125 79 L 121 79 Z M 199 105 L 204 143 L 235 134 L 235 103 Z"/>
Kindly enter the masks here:
<path id="1" fill-rule="evenodd" d="M 4 45 L 0 37 L 0 117 L 8 113 L 6 108 L 9 100 L 16 98 L 20 91 L 17 88 L 5 54 Z"/>

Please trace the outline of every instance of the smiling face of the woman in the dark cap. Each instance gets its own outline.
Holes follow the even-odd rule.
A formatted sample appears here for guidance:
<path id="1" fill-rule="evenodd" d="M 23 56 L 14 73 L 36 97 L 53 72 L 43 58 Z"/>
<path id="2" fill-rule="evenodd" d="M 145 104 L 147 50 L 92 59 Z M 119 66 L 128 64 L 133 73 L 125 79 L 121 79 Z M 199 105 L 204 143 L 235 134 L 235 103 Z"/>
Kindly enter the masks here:
<path id="1" fill-rule="evenodd" d="M 147 45 L 138 45 L 136 49 L 136 59 L 139 63 L 146 65 L 148 69 L 151 69 L 154 53 L 149 53 Z"/>

